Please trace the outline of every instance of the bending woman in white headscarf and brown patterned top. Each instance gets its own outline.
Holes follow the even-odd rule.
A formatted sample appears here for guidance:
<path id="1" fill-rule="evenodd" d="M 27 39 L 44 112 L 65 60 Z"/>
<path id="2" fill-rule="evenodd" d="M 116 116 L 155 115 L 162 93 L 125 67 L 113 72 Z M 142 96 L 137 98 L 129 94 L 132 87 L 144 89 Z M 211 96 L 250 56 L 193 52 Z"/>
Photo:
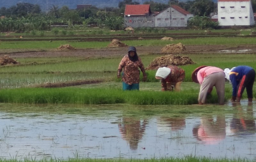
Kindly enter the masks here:
<path id="1" fill-rule="evenodd" d="M 168 66 L 158 68 L 156 79 L 161 79 L 162 91 L 180 91 L 181 82 L 185 78 L 185 71 L 178 66 Z"/>

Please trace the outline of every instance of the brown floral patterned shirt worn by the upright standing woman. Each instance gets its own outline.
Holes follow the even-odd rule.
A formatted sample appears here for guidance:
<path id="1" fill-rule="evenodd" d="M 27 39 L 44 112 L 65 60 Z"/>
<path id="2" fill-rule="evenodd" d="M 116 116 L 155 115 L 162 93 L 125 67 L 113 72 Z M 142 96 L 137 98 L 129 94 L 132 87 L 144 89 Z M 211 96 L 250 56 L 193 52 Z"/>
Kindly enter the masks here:
<path id="1" fill-rule="evenodd" d="M 139 57 L 138 61 L 132 62 L 128 55 L 125 55 L 118 66 L 117 75 L 120 75 L 122 69 L 123 76 L 122 81 L 126 84 L 132 85 L 140 82 L 140 70 L 143 76 L 146 76 L 145 68 Z"/>

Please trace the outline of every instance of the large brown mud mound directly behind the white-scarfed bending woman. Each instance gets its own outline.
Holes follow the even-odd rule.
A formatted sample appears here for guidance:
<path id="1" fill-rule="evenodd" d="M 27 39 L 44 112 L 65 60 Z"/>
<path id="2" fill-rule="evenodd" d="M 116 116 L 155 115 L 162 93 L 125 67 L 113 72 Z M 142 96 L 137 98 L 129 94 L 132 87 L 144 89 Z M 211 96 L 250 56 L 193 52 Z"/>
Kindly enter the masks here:
<path id="1" fill-rule="evenodd" d="M 146 70 L 155 70 L 160 67 L 166 67 L 169 65 L 187 65 L 194 64 L 194 62 L 188 56 L 180 55 L 164 55 L 156 57 L 146 68 Z"/>

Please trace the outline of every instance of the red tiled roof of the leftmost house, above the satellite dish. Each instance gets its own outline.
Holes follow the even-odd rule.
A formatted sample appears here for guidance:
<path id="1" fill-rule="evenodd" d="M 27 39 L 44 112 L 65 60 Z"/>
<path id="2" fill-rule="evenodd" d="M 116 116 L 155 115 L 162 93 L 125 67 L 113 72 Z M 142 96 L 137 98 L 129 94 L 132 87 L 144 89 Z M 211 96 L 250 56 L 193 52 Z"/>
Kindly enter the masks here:
<path id="1" fill-rule="evenodd" d="M 146 15 L 150 11 L 149 4 L 126 4 L 124 15 Z"/>

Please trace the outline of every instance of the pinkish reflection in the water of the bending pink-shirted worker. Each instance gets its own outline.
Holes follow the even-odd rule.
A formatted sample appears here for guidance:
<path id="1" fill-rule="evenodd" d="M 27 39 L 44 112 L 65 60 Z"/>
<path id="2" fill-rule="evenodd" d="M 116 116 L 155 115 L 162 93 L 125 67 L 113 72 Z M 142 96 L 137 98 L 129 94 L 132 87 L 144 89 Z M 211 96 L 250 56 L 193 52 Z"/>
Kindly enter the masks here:
<path id="1" fill-rule="evenodd" d="M 200 126 L 193 128 L 193 135 L 205 144 L 217 144 L 226 136 L 225 116 L 217 115 L 213 118 L 203 117 Z"/>

